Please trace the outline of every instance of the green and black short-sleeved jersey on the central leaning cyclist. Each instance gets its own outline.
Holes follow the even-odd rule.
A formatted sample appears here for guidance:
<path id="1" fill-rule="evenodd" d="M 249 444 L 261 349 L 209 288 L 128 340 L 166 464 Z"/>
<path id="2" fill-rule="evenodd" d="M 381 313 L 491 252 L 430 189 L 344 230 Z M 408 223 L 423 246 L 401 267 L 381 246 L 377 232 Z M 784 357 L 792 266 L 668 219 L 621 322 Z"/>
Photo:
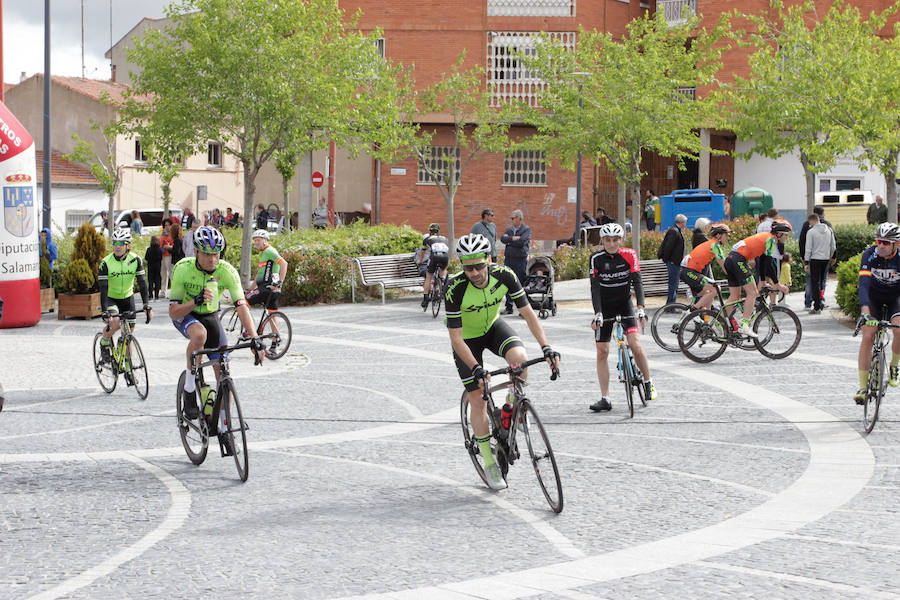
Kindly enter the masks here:
<path id="1" fill-rule="evenodd" d="M 507 293 L 517 308 L 528 304 L 528 298 L 512 269 L 503 265 L 490 265 L 488 269 L 488 283 L 484 289 L 472 285 L 462 272 L 451 277 L 447 283 L 447 327 L 461 327 L 463 339 L 481 337 L 488 332 L 500 314 L 500 305 Z"/>

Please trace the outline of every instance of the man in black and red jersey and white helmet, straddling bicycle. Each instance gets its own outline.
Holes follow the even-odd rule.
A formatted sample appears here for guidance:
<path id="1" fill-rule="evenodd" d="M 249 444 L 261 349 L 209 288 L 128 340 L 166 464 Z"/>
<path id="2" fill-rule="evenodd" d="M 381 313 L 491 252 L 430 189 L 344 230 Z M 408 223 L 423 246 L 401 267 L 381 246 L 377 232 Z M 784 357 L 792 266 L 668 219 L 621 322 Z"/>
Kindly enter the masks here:
<path id="1" fill-rule="evenodd" d="M 612 409 L 612 402 L 609 399 L 609 365 L 606 359 L 609 356 L 609 340 L 617 316 L 622 317 L 628 345 L 634 352 L 638 368 L 644 374 L 646 396 L 656 400 L 656 387 L 650 380 L 650 364 L 638 334 L 638 321 L 643 324 L 647 320 L 644 313 L 641 267 L 637 252 L 632 248 L 622 248 L 624 237 L 625 232 L 618 223 L 603 225 L 600 228 L 603 249 L 591 254 L 588 260 L 591 302 L 594 305 L 591 328 L 597 335 L 597 380 L 600 382 L 600 400 L 590 406 L 594 412 Z M 631 302 L 632 288 L 637 299 L 637 313 Z"/>

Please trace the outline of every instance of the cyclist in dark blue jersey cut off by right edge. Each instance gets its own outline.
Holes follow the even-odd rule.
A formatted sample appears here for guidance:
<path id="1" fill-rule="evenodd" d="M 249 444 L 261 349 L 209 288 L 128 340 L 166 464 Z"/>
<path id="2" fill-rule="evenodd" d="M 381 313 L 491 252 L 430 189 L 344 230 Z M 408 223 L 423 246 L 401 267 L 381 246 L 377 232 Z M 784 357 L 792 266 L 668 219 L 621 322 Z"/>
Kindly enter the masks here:
<path id="1" fill-rule="evenodd" d="M 863 252 L 859 264 L 859 310 L 862 341 L 859 344 L 859 390 L 854 402 L 864 404 L 866 385 L 869 382 L 869 359 L 878 321 L 890 321 L 900 325 L 900 227 L 894 223 L 882 223 L 875 230 L 875 245 Z M 891 343 L 890 384 L 900 383 L 900 336 L 894 333 Z"/>

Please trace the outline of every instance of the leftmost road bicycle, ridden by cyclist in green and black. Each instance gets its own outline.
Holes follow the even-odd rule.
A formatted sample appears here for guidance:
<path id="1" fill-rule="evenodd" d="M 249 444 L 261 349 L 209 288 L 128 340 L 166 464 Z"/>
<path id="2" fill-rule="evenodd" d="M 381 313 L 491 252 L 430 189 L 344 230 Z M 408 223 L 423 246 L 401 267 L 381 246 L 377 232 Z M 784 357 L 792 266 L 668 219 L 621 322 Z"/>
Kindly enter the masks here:
<path id="1" fill-rule="evenodd" d="M 147 323 L 150 322 L 150 311 L 147 309 L 122 313 L 119 317 L 119 337 L 115 343 L 110 344 L 108 356 L 104 357 L 103 350 L 100 348 L 103 333 L 97 333 L 94 336 L 94 373 L 97 374 L 100 387 L 107 394 L 111 394 L 116 389 L 119 373 L 121 373 L 125 379 L 125 385 L 134 387 L 138 398 L 146 400 L 150 391 L 147 363 L 144 362 L 144 353 L 141 351 L 141 345 L 137 338 L 134 337 L 129 322 L 129 320 L 133 321 L 139 312 L 146 313 Z M 103 321 L 107 323 L 107 327 L 110 316 L 108 313 L 103 315 Z"/>

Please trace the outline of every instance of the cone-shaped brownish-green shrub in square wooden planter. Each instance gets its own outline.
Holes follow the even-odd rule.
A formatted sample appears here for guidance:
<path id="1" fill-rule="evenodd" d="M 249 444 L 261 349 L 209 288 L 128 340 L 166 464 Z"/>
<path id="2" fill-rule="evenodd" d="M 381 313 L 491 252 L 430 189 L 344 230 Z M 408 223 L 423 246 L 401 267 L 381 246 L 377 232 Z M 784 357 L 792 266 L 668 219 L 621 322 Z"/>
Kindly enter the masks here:
<path id="1" fill-rule="evenodd" d="M 64 293 L 59 296 L 57 309 L 60 319 L 90 319 L 100 314 L 97 269 L 105 252 L 106 239 L 90 223 L 84 223 L 75 236 L 72 258 L 62 274 Z"/>

